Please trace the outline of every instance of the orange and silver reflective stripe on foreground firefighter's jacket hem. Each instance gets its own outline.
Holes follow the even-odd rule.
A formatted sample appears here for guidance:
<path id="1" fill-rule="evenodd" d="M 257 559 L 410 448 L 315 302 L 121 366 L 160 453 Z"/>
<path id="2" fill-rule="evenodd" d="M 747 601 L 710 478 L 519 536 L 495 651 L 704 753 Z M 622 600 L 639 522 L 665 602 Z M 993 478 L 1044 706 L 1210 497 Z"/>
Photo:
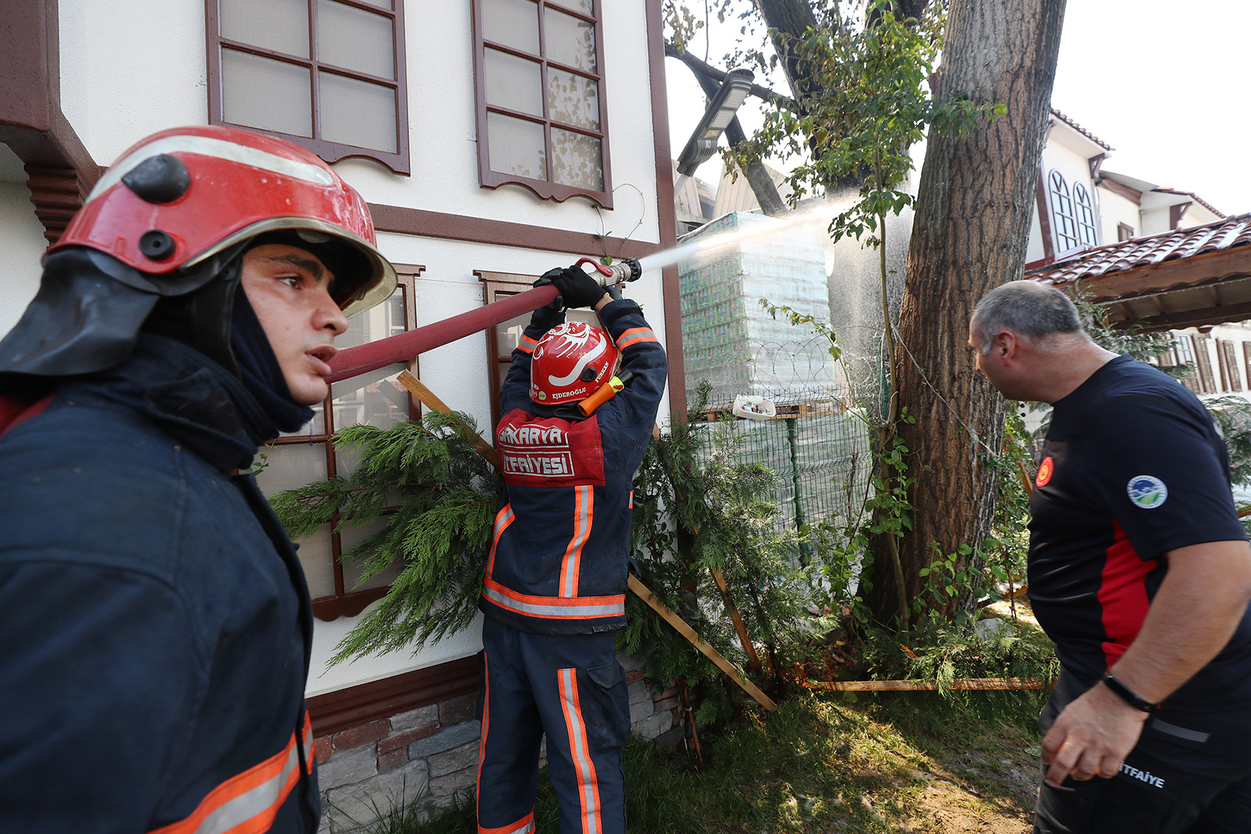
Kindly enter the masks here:
<path id="1" fill-rule="evenodd" d="M 304 713 L 303 739 L 291 733 L 286 746 L 260 764 L 226 779 L 200 800 L 190 816 L 150 834 L 261 834 L 300 779 L 296 744 L 304 748 L 306 771 L 313 770 L 313 725 Z"/>

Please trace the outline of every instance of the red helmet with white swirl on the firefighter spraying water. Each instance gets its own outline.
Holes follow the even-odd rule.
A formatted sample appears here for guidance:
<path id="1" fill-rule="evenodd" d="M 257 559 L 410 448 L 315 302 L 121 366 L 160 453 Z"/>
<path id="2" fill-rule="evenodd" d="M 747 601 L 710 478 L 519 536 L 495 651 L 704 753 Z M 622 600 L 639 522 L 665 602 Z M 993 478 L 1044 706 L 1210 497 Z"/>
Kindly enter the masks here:
<path id="1" fill-rule="evenodd" d="M 534 345 L 530 399 L 543 405 L 584 400 L 612 378 L 617 345 L 608 334 L 582 321 L 552 328 Z"/>

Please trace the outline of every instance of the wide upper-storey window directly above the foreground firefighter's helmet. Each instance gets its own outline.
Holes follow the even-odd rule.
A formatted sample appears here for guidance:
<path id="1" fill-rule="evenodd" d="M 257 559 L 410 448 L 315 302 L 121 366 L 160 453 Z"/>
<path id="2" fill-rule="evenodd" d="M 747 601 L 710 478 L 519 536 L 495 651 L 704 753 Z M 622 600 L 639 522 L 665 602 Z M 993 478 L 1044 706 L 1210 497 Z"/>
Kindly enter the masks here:
<path id="1" fill-rule="evenodd" d="M 206 0 L 209 121 L 409 173 L 404 0 Z"/>

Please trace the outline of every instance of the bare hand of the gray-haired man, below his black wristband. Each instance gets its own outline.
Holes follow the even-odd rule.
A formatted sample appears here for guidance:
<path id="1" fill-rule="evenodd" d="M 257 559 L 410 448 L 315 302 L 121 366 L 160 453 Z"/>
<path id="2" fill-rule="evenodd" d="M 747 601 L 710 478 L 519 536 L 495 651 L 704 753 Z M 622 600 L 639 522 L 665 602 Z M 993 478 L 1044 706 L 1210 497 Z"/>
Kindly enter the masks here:
<path id="1" fill-rule="evenodd" d="M 1146 713 L 1096 684 L 1060 713 L 1042 739 L 1047 784 L 1060 785 L 1067 776 L 1111 779 L 1138 743 L 1146 720 Z"/>

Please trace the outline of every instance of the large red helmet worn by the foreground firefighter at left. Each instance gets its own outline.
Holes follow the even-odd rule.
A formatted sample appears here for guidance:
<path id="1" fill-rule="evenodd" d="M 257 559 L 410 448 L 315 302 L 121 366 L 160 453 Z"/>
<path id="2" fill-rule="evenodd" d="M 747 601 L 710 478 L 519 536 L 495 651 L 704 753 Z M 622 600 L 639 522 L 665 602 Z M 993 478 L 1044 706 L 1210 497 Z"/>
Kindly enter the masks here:
<path id="1" fill-rule="evenodd" d="M 290 230 L 309 244 L 345 244 L 335 301 L 348 315 L 395 289 L 355 189 L 314 154 L 238 128 L 153 134 L 100 178 L 48 251 L 88 246 L 149 275 L 185 274 L 235 244 Z"/>

